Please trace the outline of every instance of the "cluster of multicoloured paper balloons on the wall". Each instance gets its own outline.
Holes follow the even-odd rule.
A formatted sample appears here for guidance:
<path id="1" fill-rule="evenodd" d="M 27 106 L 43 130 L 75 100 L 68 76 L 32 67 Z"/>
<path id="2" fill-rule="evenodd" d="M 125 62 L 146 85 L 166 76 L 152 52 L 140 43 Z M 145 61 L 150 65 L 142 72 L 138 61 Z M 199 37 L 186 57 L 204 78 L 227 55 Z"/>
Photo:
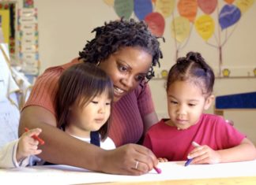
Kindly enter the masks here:
<path id="1" fill-rule="evenodd" d="M 113 6 L 119 17 L 129 19 L 131 15 L 149 24 L 152 34 L 162 36 L 166 26 L 165 19 L 171 17 L 171 36 L 175 41 L 175 57 L 189 42 L 191 31 L 195 28 L 201 39 L 209 46 L 219 50 L 219 72 L 221 76 L 222 48 L 254 0 L 104 0 Z M 220 5 L 221 4 L 221 5 Z M 221 6 L 221 7 L 220 7 Z M 175 9 L 177 11 L 175 11 Z M 213 13 L 215 12 L 215 15 Z M 215 36 L 215 43 L 209 39 Z M 224 39 L 221 39 L 224 35 Z"/>

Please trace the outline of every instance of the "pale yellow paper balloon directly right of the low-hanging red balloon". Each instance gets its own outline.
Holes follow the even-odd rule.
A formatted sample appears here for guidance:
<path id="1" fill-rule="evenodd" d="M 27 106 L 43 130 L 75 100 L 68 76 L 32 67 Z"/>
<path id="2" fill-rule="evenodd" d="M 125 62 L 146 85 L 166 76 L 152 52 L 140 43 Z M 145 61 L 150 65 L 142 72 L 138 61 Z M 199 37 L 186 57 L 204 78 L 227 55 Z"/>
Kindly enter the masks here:
<path id="1" fill-rule="evenodd" d="M 171 22 L 171 36 L 179 43 L 190 35 L 190 20 L 185 17 L 175 17 Z"/>

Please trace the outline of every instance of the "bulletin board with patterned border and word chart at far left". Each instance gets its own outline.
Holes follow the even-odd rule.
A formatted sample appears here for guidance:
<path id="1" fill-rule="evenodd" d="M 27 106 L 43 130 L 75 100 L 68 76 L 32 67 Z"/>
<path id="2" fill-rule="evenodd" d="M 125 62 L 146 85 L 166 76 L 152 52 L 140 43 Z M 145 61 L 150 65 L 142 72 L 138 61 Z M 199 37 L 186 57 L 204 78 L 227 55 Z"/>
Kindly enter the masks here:
<path id="1" fill-rule="evenodd" d="M 0 42 L 9 46 L 10 65 L 28 76 L 37 76 L 38 22 L 33 0 L 1 1 L 0 20 Z"/>

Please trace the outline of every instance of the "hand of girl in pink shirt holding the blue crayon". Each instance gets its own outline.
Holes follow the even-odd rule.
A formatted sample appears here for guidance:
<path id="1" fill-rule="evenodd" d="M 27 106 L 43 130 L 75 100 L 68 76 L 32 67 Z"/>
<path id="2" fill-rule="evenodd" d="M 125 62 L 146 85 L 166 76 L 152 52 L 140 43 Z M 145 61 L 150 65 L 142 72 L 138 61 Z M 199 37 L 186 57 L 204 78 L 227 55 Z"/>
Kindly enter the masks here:
<path id="1" fill-rule="evenodd" d="M 188 158 L 193 158 L 191 164 L 216 164 L 220 163 L 220 154 L 207 145 L 197 146 L 190 152 Z"/>

